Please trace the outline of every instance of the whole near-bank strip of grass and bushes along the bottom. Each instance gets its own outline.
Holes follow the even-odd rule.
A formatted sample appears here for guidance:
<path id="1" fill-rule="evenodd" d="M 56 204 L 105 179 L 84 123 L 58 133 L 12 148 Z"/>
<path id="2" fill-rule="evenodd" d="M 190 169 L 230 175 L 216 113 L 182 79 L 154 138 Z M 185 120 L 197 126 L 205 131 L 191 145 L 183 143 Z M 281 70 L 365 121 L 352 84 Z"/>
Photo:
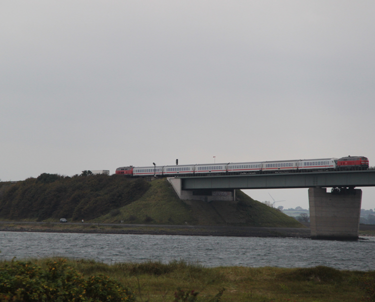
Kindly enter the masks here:
<path id="1" fill-rule="evenodd" d="M 374 277 L 375 272 L 328 267 L 204 268 L 184 261 L 105 265 L 89 260 L 65 263 L 41 259 L 1 262 L 0 297 L 2 301 L 73 301 L 75 298 L 74 301 L 108 302 L 133 299 L 139 302 L 365 302 L 375 301 Z M 5 297 L 15 299 L 5 300 Z"/>

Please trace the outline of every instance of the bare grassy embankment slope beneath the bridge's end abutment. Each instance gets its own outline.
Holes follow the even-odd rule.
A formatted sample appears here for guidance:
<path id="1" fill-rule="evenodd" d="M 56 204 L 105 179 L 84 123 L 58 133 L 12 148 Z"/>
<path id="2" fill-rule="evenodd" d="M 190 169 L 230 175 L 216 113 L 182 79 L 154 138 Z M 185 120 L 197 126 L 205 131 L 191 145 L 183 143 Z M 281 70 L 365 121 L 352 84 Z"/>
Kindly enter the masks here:
<path id="1" fill-rule="evenodd" d="M 236 190 L 237 202 L 181 201 L 165 179 L 155 180 L 138 200 L 92 220 L 100 223 L 233 225 L 304 228 L 295 219 Z"/>

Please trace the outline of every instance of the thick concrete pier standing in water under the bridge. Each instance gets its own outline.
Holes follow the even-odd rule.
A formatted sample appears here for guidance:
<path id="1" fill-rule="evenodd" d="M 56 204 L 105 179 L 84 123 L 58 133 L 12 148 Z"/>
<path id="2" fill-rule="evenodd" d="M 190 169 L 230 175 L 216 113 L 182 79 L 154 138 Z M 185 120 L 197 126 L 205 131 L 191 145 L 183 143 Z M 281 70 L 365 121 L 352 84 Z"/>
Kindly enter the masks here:
<path id="1" fill-rule="evenodd" d="M 362 190 L 332 194 L 323 188 L 308 189 L 311 239 L 357 240 Z"/>

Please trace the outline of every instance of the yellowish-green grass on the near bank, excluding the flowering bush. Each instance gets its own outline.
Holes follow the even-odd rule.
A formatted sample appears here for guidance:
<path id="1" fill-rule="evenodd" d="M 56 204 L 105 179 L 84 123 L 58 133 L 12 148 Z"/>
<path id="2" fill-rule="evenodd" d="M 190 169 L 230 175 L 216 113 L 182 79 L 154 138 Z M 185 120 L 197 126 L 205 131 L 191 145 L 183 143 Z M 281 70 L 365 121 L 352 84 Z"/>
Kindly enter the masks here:
<path id="1" fill-rule="evenodd" d="M 45 268 L 47 261 L 50 260 L 31 260 L 31 262 Z M 10 262 L 0 262 L 0 272 L 6 263 Z M 136 301 L 142 302 L 373 301 L 366 298 L 363 290 L 364 277 L 372 274 L 367 281 L 372 280 L 373 291 L 373 272 L 339 271 L 327 267 L 307 269 L 205 268 L 199 264 L 184 261 L 169 264 L 146 262 L 106 265 L 88 260 L 68 259 L 66 263 L 85 278 L 104 274 L 117 280 L 134 292 Z M 191 291 L 199 294 L 196 297 L 188 295 L 186 300 L 175 300 L 174 295 L 178 288 L 185 295 Z M 222 289 L 225 289 L 222 296 L 215 298 Z"/>

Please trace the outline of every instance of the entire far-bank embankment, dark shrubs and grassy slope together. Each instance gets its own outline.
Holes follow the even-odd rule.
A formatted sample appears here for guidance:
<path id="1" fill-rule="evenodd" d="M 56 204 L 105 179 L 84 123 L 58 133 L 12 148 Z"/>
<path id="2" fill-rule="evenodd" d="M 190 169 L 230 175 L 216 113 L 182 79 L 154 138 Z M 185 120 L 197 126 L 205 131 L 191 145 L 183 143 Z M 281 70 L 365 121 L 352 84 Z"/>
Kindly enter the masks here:
<path id="1" fill-rule="evenodd" d="M 1 220 L 60 218 L 100 223 L 303 227 L 240 190 L 235 202 L 183 202 L 165 179 L 43 173 L 15 184 L 0 183 Z"/>

